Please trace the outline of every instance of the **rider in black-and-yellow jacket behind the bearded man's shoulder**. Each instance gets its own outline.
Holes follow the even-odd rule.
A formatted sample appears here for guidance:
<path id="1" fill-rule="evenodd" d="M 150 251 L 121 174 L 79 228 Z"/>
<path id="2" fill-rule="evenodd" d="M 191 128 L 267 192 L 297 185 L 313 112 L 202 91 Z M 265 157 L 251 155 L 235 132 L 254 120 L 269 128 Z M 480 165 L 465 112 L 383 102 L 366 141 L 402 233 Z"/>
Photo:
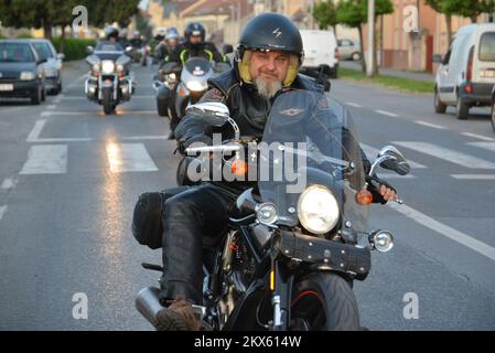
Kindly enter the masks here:
<path id="1" fill-rule="evenodd" d="M 190 57 L 205 57 L 209 62 L 224 62 L 229 63 L 228 58 L 220 54 L 214 44 L 205 42 L 206 30 L 198 23 L 193 22 L 187 24 L 184 30 L 185 42 L 183 45 L 179 45 L 170 55 L 165 56 L 163 64 L 175 62 L 182 66 Z M 175 100 L 175 89 L 172 89 L 170 101 Z M 174 130 L 179 124 L 176 115 L 170 119 L 170 136 L 169 139 L 174 139 Z"/>

